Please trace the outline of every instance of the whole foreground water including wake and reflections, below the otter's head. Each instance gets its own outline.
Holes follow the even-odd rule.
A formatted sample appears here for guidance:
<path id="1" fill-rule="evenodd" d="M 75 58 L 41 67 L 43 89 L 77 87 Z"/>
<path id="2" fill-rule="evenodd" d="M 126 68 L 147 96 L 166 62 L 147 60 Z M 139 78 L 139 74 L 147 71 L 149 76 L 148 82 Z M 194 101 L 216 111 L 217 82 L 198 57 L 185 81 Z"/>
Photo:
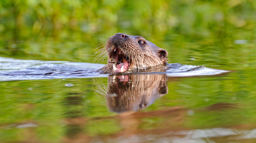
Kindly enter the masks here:
<path id="1" fill-rule="evenodd" d="M 1 141 L 256 141 L 250 71 L 170 64 L 102 75 L 102 66 L 1 58 Z"/>

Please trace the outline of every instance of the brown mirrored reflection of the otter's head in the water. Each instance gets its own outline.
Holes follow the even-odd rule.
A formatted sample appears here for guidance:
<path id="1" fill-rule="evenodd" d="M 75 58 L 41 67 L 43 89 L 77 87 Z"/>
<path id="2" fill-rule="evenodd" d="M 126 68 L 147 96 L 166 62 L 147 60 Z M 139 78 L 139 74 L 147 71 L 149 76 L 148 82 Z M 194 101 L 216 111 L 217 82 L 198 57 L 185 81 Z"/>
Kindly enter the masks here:
<path id="1" fill-rule="evenodd" d="M 107 103 L 111 112 L 147 108 L 168 93 L 165 74 L 109 75 Z"/>

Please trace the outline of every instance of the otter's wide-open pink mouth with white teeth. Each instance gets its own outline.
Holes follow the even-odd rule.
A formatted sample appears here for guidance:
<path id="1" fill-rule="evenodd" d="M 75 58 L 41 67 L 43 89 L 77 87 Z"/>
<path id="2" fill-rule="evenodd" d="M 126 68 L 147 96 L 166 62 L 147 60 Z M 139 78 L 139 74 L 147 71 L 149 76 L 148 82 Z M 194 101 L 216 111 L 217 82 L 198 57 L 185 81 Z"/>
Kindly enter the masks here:
<path id="1" fill-rule="evenodd" d="M 113 57 L 115 57 L 115 62 L 113 64 L 113 72 L 120 73 L 125 72 L 129 68 L 129 63 L 131 62 L 127 55 L 124 54 L 119 48 L 115 48 L 112 51 Z"/>

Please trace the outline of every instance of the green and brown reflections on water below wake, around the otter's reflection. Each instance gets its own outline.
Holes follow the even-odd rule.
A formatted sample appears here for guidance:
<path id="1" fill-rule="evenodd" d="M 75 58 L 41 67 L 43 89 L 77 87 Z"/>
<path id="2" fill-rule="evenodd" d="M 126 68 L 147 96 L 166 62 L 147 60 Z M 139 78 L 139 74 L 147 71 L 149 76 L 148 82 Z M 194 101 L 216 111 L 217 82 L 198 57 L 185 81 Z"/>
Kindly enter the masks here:
<path id="1" fill-rule="evenodd" d="M 250 86 L 253 83 L 243 77 L 235 79 L 237 73 L 170 78 L 166 96 L 145 111 L 120 115 L 109 112 L 105 96 L 94 92 L 96 86 L 92 79 L 3 82 L 0 135 L 2 141 L 26 141 L 20 134 L 27 137 L 34 132 L 36 141 L 56 142 L 81 133 L 93 138 L 132 132 L 163 133 L 170 129 L 251 125 L 255 122 L 254 90 Z M 239 81 L 242 83 L 237 83 Z M 107 79 L 94 79 L 94 82 L 107 84 Z M 74 86 L 65 87 L 67 83 Z M 189 110 L 194 114 L 188 116 Z M 23 122 L 34 122 L 38 127 L 16 129 L 10 126 Z"/>

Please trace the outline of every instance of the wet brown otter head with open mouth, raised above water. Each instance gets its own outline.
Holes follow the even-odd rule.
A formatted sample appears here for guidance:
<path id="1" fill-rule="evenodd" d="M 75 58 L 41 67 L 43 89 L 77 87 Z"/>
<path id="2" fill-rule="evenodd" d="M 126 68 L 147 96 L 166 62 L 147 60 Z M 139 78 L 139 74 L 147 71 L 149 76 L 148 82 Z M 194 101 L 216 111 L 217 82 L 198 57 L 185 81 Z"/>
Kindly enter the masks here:
<path id="1" fill-rule="evenodd" d="M 142 36 L 117 33 L 106 43 L 108 64 L 101 68 L 104 73 L 145 71 L 165 65 L 168 52 L 157 47 Z"/>

